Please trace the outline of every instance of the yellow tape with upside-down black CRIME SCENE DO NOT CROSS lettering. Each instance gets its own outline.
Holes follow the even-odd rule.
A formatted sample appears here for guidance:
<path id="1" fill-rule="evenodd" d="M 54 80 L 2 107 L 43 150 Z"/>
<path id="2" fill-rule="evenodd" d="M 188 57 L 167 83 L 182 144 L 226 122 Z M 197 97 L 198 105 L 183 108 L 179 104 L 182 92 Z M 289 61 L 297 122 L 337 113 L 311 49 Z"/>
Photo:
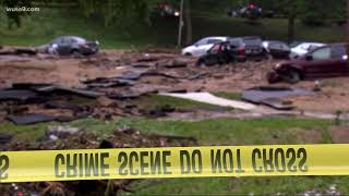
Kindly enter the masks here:
<path id="1" fill-rule="evenodd" d="M 0 152 L 0 183 L 348 174 L 346 144 Z"/>

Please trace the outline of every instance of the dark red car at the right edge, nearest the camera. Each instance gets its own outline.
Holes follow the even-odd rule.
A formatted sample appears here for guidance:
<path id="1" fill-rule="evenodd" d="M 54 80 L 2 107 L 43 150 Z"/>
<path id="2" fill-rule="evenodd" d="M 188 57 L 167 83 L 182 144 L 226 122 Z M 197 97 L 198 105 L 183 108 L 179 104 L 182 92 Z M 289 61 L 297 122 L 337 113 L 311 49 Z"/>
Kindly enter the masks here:
<path id="1" fill-rule="evenodd" d="M 322 46 L 298 59 L 277 63 L 268 73 L 268 82 L 297 83 L 305 78 L 349 75 L 346 46 L 346 44 Z"/>

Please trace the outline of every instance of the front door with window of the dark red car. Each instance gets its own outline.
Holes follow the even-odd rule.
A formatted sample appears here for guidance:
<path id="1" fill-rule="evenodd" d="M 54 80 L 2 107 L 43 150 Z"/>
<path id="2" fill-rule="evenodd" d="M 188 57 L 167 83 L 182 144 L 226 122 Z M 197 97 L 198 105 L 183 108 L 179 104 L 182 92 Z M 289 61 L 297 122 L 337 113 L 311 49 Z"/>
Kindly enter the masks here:
<path id="1" fill-rule="evenodd" d="M 308 76 L 325 77 L 338 74 L 338 66 L 332 58 L 332 48 L 315 49 L 305 56 L 304 73 Z"/>

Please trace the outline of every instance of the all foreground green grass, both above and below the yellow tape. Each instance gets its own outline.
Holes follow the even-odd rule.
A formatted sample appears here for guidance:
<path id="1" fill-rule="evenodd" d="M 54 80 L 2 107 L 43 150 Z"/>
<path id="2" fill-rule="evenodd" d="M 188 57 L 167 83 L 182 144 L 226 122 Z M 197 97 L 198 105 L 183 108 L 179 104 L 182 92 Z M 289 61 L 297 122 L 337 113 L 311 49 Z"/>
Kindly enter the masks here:
<path id="1" fill-rule="evenodd" d="M 45 133 L 49 124 L 15 126 L 0 124 L 0 132 L 15 134 L 15 139 L 35 140 Z M 164 135 L 193 136 L 201 145 L 266 145 L 266 144 L 306 144 L 312 143 L 306 133 L 316 132 L 318 143 L 330 143 L 327 128 L 332 121 L 313 119 L 255 119 L 233 120 L 216 119 L 200 122 L 156 121 L 143 118 L 122 118 L 112 122 L 95 119 L 83 119 L 71 123 L 71 126 L 94 132 L 100 137 L 121 126 L 131 126 L 142 133 Z M 294 131 L 297 128 L 297 131 Z M 304 133 L 300 139 L 299 135 Z M 269 195 L 282 193 L 294 195 L 314 188 L 328 188 L 337 184 L 342 194 L 349 193 L 349 177 L 321 176 L 277 176 L 277 177 L 206 177 L 206 179 L 166 179 L 141 180 L 132 184 L 134 195 Z M 129 194 L 129 193 L 122 193 Z"/>

